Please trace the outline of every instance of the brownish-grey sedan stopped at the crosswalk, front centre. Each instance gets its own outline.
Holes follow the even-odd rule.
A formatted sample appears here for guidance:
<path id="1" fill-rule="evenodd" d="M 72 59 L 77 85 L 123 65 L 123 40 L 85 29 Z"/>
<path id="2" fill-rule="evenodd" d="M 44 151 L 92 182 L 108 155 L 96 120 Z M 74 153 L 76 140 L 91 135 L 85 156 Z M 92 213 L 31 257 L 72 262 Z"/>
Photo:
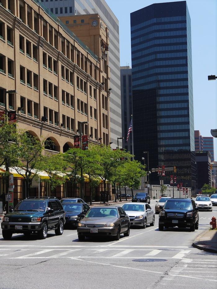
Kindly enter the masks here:
<path id="1" fill-rule="evenodd" d="M 120 234 L 129 236 L 130 219 L 122 207 L 93 207 L 78 223 L 78 240 L 93 236 L 113 236 L 119 240 Z"/>

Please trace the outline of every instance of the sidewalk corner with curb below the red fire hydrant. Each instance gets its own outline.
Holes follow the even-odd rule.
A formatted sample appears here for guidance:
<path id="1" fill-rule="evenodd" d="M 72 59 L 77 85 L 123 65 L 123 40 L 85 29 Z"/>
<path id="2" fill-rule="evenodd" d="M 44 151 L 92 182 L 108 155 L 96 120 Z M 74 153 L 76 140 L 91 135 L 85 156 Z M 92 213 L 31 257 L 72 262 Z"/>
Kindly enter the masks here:
<path id="1" fill-rule="evenodd" d="M 201 233 L 193 241 L 192 246 L 200 250 L 217 253 L 217 229 L 206 230 Z"/>

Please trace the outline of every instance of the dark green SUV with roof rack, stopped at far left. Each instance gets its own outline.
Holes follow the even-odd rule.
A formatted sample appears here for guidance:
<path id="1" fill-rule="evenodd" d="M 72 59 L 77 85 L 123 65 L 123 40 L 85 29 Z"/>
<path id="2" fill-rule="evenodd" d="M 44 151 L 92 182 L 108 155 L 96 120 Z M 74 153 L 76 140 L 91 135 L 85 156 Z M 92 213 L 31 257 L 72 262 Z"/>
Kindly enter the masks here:
<path id="1" fill-rule="evenodd" d="M 2 221 L 2 236 L 9 240 L 13 233 L 29 236 L 37 232 L 40 239 L 47 237 L 48 230 L 62 235 L 65 224 L 65 212 L 58 199 L 29 198 L 19 202 L 14 210 L 6 214 Z"/>

